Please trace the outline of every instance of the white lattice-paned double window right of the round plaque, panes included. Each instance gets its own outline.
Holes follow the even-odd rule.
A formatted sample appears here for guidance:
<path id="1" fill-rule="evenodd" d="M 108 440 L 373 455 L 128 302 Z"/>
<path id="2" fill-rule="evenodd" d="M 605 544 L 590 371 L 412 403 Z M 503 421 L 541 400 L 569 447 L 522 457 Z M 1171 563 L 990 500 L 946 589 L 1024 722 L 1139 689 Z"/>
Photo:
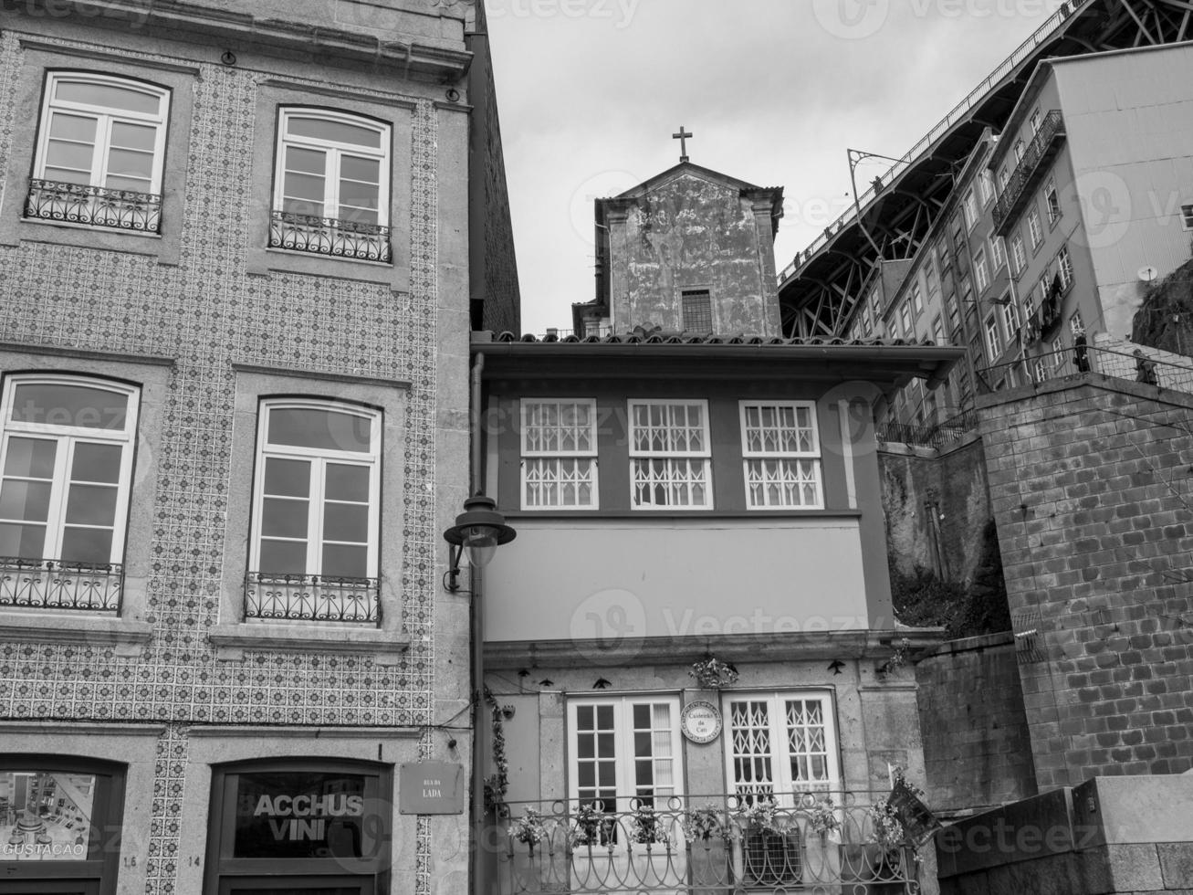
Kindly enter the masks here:
<path id="1" fill-rule="evenodd" d="M 791 807 L 797 794 L 840 788 L 828 693 L 734 693 L 725 697 L 724 717 L 731 795 Z"/>

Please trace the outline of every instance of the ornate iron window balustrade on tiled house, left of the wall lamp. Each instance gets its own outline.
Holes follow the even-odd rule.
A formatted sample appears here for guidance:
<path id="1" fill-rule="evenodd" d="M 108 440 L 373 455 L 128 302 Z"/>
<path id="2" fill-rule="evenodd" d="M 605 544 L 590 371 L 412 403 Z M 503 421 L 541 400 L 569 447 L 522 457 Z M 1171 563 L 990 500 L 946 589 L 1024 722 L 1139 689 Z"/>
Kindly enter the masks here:
<path id="1" fill-rule="evenodd" d="M 381 579 L 333 575 L 245 575 L 245 617 L 288 622 L 381 621 Z"/>

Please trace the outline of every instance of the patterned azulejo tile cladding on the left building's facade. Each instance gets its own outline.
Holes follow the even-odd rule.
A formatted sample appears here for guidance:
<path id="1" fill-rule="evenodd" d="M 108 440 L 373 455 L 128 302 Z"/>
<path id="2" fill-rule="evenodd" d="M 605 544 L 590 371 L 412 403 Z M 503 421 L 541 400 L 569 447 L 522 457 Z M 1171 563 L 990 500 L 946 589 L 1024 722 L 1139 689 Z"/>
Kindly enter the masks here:
<path id="1" fill-rule="evenodd" d="M 19 35 L 0 38 L 0 95 L 21 64 Z M 44 43 L 44 38 L 43 38 Z M 81 47 L 81 49 L 88 49 Z M 415 101 L 412 285 L 307 276 L 248 276 L 254 121 L 264 75 L 204 64 L 196 81 L 183 260 L 50 243 L 0 247 L 0 341 L 177 358 L 162 408 L 155 482 L 136 482 L 134 512 L 153 513 L 141 660 L 104 646 L 0 644 L 0 717 L 156 721 L 159 742 L 148 887 L 169 893 L 190 724 L 403 726 L 433 723 L 435 594 L 437 113 Z M 376 94 L 382 100 L 383 94 Z M 392 97 L 390 97 L 392 98 Z M 0 117 L 0 156 L 14 122 Z M 2 174 L 0 174 L 2 177 Z M 258 197 L 259 198 L 259 197 Z M 353 372 L 412 383 L 403 464 L 403 619 L 410 649 L 395 667 L 334 653 L 258 652 L 216 661 L 224 524 L 230 501 L 233 363 Z M 63 368 L 69 362 L 63 359 Z M 462 374 L 463 375 L 463 374 Z M 424 735 L 420 753 L 432 739 Z M 428 893 L 429 827 L 418 826 L 418 891 Z"/>

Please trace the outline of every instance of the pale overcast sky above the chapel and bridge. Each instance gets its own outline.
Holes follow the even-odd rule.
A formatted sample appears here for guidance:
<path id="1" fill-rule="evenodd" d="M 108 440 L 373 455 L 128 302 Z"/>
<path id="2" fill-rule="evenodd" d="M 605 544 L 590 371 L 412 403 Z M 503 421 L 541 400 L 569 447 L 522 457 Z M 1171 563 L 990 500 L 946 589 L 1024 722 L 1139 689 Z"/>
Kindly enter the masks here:
<path id="1" fill-rule="evenodd" d="M 785 187 L 775 264 L 849 203 L 846 148 L 900 156 L 1059 0 L 486 0 L 523 331 L 593 298 L 593 199 L 679 161 Z M 889 162 L 864 162 L 859 191 Z"/>

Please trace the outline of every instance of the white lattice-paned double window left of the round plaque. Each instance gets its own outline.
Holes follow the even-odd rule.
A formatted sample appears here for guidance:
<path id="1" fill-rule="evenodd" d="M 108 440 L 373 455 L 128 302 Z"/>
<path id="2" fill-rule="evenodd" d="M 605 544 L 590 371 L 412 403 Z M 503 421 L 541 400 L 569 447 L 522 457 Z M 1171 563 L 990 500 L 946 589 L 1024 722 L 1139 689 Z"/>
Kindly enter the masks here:
<path id="1" fill-rule="evenodd" d="M 568 703 L 568 797 L 613 814 L 681 795 L 679 700 L 622 697 Z M 617 825 L 610 826 L 616 838 Z"/>

